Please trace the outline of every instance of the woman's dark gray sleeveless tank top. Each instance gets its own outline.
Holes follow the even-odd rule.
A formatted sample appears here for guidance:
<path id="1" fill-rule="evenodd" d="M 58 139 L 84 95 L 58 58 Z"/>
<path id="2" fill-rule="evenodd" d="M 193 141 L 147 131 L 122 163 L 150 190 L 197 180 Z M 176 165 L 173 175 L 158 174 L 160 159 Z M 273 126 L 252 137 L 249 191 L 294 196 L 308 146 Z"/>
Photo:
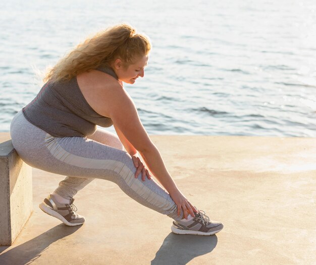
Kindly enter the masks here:
<path id="1" fill-rule="evenodd" d="M 112 68 L 96 70 L 118 80 Z M 111 118 L 101 116 L 90 107 L 76 76 L 66 82 L 48 81 L 22 112 L 29 122 L 54 137 L 87 137 L 94 134 L 96 125 L 110 127 L 113 124 Z"/>

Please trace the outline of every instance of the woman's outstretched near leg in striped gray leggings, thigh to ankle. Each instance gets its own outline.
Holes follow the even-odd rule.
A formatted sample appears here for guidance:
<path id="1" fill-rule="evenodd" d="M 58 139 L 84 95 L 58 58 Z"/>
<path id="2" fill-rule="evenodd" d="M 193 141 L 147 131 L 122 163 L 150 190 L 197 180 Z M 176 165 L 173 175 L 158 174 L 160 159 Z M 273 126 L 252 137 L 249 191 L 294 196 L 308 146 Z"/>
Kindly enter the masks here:
<path id="1" fill-rule="evenodd" d="M 98 178 L 116 183 L 139 203 L 177 219 L 177 206 L 170 195 L 153 180 L 135 179 L 136 168 L 125 151 L 81 137 L 55 138 L 46 135 L 48 171 L 72 176 Z"/>

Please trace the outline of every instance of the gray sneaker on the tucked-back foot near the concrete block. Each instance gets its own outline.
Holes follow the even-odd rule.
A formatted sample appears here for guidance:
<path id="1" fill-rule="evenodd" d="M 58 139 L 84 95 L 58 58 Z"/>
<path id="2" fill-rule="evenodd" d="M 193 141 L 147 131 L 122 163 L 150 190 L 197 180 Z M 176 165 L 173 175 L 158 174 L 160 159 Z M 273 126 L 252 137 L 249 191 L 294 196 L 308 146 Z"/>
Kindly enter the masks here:
<path id="1" fill-rule="evenodd" d="M 74 200 L 72 198 L 69 204 L 58 203 L 49 194 L 39 204 L 39 208 L 43 212 L 60 219 L 67 226 L 79 226 L 84 223 L 84 217 L 75 212 L 77 211 L 77 207 L 73 204 Z"/>

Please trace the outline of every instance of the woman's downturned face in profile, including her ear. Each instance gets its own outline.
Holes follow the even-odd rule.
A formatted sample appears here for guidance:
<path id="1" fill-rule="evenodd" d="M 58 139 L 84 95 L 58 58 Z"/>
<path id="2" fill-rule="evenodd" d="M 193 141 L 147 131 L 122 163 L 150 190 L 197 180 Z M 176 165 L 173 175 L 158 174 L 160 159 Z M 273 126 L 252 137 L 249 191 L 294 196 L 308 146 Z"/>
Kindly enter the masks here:
<path id="1" fill-rule="evenodd" d="M 114 63 L 114 68 L 120 81 L 133 84 L 139 76 L 144 77 L 144 68 L 147 62 L 148 55 L 140 57 L 135 63 L 124 67 L 122 61 L 117 59 Z"/>

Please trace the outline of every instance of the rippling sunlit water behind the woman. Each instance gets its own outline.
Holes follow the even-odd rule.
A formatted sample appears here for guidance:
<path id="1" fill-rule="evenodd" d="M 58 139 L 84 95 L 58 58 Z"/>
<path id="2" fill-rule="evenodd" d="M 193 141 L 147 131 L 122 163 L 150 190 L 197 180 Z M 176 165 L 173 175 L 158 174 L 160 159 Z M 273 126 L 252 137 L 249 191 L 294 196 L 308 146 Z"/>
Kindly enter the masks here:
<path id="1" fill-rule="evenodd" d="M 126 85 L 149 134 L 316 137 L 314 0 L 1 1 L 0 131 L 38 71 L 120 22 L 152 41 Z"/>

